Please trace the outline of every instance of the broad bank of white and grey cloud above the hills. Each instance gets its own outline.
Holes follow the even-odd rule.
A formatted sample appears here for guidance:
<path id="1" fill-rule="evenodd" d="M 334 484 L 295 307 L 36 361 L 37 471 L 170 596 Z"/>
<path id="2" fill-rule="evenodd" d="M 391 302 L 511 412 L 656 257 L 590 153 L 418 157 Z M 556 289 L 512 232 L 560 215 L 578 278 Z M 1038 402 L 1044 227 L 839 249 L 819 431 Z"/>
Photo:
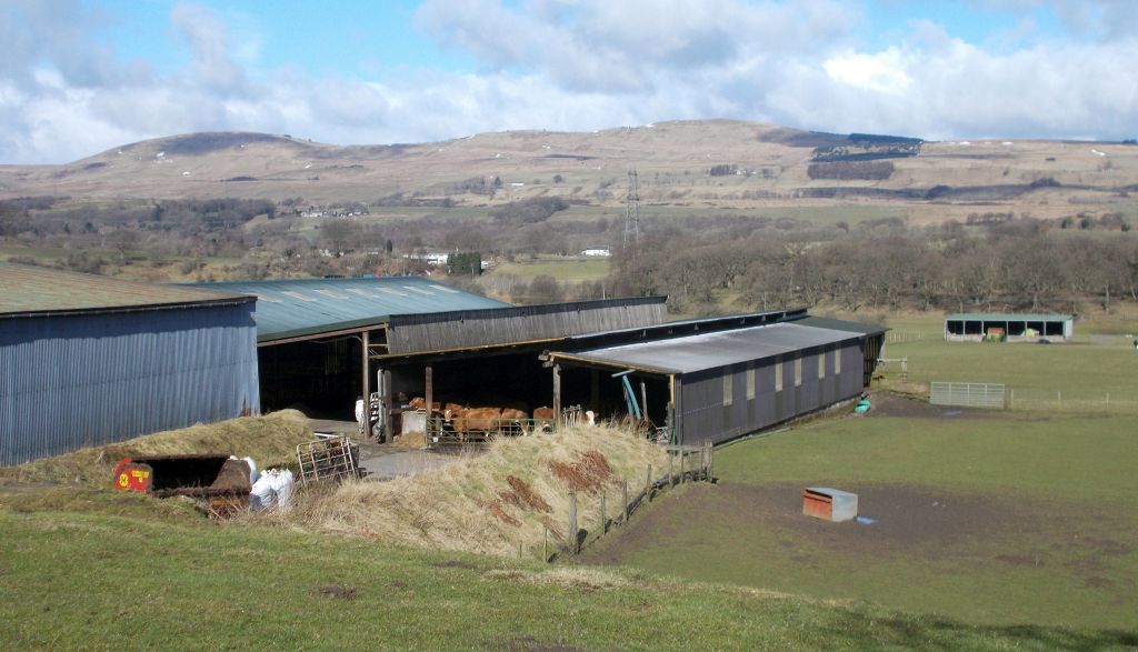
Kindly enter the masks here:
<path id="1" fill-rule="evenodd" d="M 430 0 L 420 24 L 484 69 L 364 81 L 258 69 L 256 48 L 234 46 L 229 23 L 192 5 L 171 14 L 172 46 L 191 63 L 158 75 L 92 41 L 98 16 L 82 5 L 49 5 L 0 9 L 11 43 L 0 58 L 0 162 L 72 160 L 206 130 L 382 143 L 711 117 L 946 139 L 1120 139 L 1138 124 L 1132 36 L 996 51 L 923 22 L 904 42 L 866 49 L 865 18 L 843 2 Z M 1094 16 L 1114 7 L 1103 6 Z"/>

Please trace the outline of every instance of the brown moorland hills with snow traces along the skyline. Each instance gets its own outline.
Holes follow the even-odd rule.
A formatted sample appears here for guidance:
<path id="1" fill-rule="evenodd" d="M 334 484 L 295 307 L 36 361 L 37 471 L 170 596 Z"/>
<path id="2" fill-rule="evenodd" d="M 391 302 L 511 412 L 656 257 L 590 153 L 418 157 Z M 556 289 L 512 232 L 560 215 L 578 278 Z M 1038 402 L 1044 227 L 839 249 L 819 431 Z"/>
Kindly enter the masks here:
<path id="1" fill-rule="evenodd" d="M 645 206 L 801 204 L 914 207 L 916 222 L 1012 211 L 1135 213 L 1138 146 L 1075 141 L 924 142 L 735 121 L 591 133 L 513 131 L 432 143 L 333 146 L 213 132 L 125 145 L 64 165 L 0 166 L 0 199 L 241 197 L 311 204 L 534 196 L 619 205 L 636 168 Z M 500 182 L 496 183 L 496 180 Z M 493 192 L 492 192 L 493 191 Z"/>

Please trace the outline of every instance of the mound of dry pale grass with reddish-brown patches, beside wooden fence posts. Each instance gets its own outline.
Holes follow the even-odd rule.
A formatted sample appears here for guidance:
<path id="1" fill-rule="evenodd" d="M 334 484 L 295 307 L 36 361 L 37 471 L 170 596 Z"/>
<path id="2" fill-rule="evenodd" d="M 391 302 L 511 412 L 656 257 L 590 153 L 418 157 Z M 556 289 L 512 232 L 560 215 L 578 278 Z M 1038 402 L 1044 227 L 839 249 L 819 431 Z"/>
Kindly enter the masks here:
<path id="1" fill-rule="evenodd" d="M 602 494 L 609 518 L 662 474 L 662 448 L 627 430 L 582 426 L 553 435 L 503 438 L 480 455 L 388 482 L 358 481 L 307 493 L 287 518 L 316 529 L 373 536 L 431 550 L 537 558 L 569 543 L 569 494 L 578 523 L 595 534 Z M 284 517 L 282 517 L 284 518 Z"/>

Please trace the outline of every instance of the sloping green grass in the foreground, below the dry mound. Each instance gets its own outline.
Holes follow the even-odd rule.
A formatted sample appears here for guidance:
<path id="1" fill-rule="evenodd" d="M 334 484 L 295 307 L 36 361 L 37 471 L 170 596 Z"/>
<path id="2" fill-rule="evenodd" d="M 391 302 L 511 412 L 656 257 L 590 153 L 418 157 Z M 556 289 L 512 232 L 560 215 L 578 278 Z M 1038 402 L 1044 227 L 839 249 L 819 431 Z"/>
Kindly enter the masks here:
<path id="1" fill-rule="evenodd" d="M 0 507 L 0 645 L 1054 650 L 1133 644 L 1121 632 L 975 626 L 641 572 L 396 548 L 173 513 L 154 518 L 146 505 L 137 513 L 114 511 L 124 515 Z"/>

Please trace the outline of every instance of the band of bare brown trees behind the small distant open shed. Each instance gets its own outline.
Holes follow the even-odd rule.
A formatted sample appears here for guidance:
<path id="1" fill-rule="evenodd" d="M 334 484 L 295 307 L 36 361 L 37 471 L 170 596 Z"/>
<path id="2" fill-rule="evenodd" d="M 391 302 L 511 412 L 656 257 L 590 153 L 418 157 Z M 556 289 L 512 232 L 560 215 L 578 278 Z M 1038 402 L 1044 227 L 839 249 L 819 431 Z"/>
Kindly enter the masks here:
<path id="1" fill-rule="evenodd" d="M 827 303 L 846 311 L 1064 310 L 1138 300 L 1138 238 L 1056 233 L 1020 221 L 986 229 L 857 232 L 828 241 L 786 234 L 707 241 L 650 234 L 616 261 L 618 294 L 668 295 L 711 313 Z"/>

